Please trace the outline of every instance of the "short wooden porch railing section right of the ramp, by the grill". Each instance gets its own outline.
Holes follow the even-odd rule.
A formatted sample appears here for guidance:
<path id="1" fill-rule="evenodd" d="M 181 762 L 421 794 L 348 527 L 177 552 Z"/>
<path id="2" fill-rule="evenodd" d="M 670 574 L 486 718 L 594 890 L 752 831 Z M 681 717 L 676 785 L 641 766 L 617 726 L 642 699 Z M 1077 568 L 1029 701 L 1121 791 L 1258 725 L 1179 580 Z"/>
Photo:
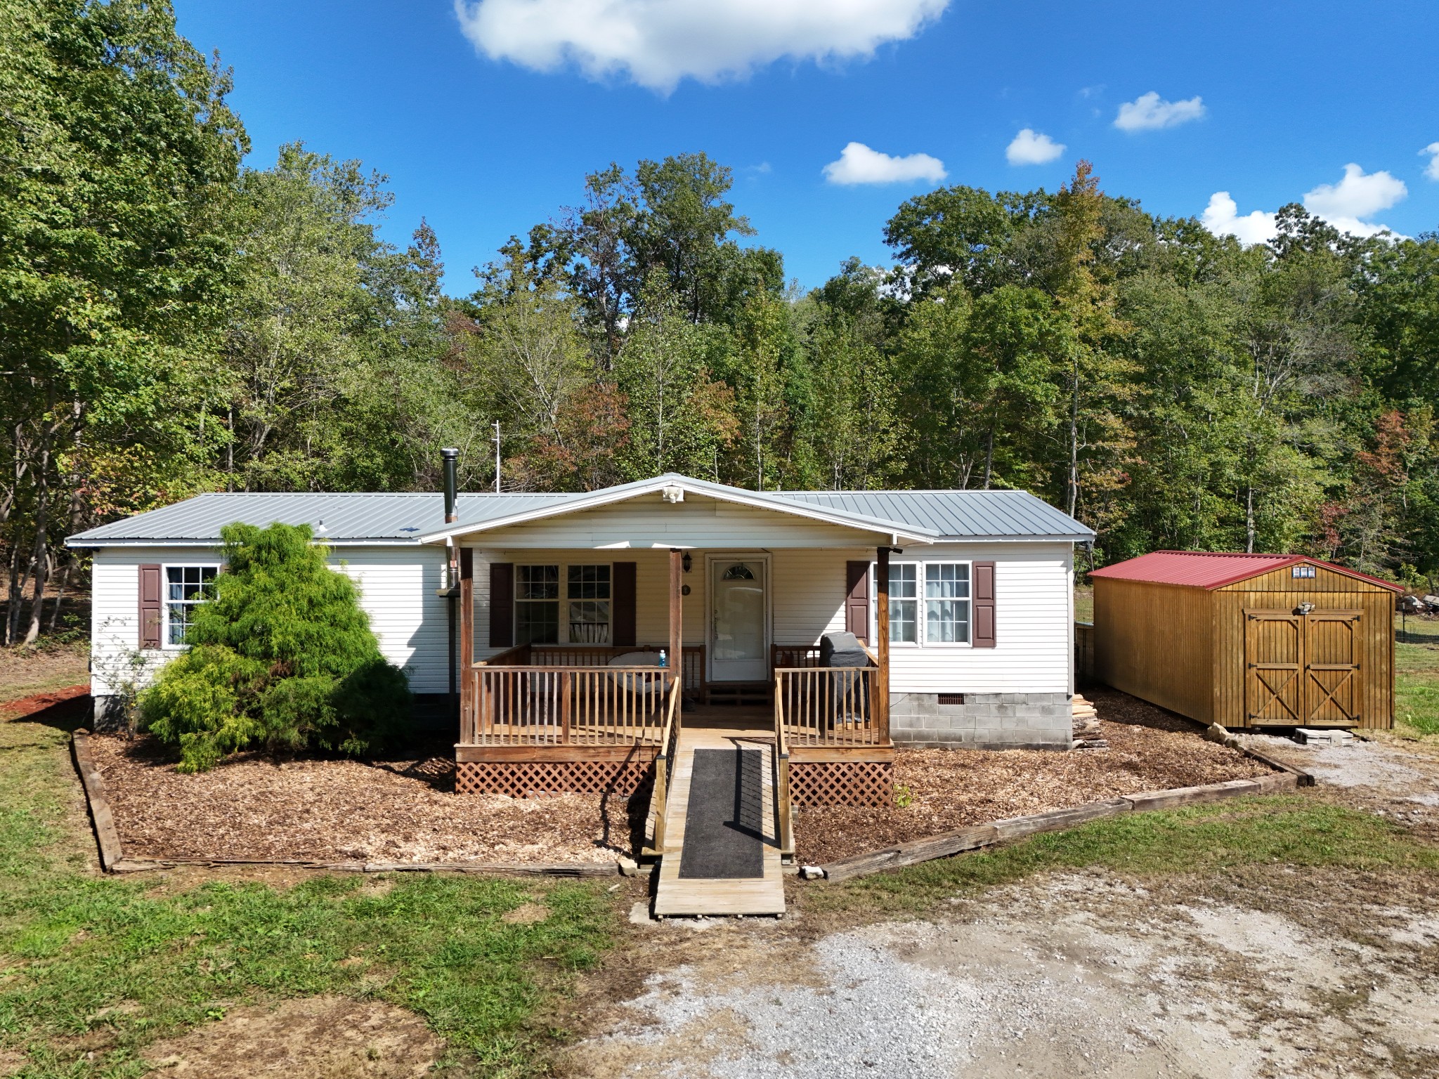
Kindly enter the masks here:
<path id="1" fill-rule="evenodd" d="M 787 747 L 889 745 L 879 708 L 879 669 L 780 668 L 774 724 Z"/>

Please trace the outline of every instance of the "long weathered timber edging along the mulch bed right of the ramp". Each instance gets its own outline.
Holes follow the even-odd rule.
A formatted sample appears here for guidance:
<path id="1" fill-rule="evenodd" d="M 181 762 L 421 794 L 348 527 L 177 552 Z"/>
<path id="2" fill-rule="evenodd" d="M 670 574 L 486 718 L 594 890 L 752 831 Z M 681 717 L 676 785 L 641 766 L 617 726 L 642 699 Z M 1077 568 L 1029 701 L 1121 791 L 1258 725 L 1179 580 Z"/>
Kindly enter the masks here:
<path id="1" fill-rule="evenodd" d="M 1302 777 L 1302 778 L 1301 778 Z M 1304 780 L 1308 780 L 1305 783 Z M 1210 783 L 1204 787 L 1173 787 L 1170 790 L 1143 791 L 1127 794 L 1108 801 L 1089 801 L 1084 806 L 1035 813 L 1027 817 L 1007 817 L 993 820 L 989 824 L 945 832 L 938 836 L 912 839 L 908 843 L 896 843 L 884 850 L 872 850 L 865 855 L 842 857 L 819 866 L 825 880 L 850 880 L 858 876 L 881 873 L 886 869 L 899 869 L 920 862 L 932 862 L 940 857 L 950 857 L 966 850 L 980 850 L 999 843 L 1035 836 L 1040 832 L 1061 832 L 1075 824 L 1091 820 L 1102 820 L 1121 813 L 1150 813 L 1153 810 L 1177 809 L 1180 806 L 1203 806 L 1227 798 L 1239 798 L 1249 794 L 1278 794 L 1285 790 L 1311 786 L 1314 778 L 1297 768 L 1286 768 L 1275 775 L 1259 775 L 1252 780 L 1229 780 L 1226 783 Z"/>

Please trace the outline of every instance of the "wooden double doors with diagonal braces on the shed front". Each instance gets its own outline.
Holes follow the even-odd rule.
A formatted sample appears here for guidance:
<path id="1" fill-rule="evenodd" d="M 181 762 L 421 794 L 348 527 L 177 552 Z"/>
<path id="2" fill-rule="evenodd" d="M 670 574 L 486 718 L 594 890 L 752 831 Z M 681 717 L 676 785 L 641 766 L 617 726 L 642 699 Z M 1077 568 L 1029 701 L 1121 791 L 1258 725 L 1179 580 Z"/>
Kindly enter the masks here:
<path id="1" fill-rule="evenodd" d="M 1249 727 L 1356 727 L 1360 611 L 1245 609 Z"/>

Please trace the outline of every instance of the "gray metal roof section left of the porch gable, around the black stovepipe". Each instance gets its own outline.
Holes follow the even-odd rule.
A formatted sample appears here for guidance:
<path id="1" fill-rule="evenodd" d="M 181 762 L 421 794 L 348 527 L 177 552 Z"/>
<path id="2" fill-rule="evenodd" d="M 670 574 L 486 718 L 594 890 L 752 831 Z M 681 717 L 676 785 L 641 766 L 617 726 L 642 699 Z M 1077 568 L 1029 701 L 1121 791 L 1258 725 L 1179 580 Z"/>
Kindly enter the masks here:
<path id="1" fill-rule="evenodd" d="M 573 495 L 460 495 L 462 519 L 484 521 L 564 502 Z M 209 493 L 72 535 L 71 547 L 142 542 L 220 542 L 220 527 L 314 525 L 332 544 L 410 544 L 445 527 L 437 493 Z M 324 531 L 319 525 L 324 524 Z"/>

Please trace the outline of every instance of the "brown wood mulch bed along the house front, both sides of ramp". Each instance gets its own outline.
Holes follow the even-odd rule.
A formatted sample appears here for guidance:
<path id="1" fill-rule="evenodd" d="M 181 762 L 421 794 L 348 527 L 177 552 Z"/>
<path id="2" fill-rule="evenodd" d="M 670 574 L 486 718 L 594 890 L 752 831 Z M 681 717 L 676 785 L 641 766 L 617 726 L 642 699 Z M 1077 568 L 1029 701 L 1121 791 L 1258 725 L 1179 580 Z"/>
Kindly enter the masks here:
<path id="1" fill-rule="evenodd" d="M 1108 750 L 901 750 L 895 784 L 911 804 L 804 810 L 799 859 L 825 863 L 1003 817 L 1271 771 L 1143 701 L 1085 695 Z M 442 745 L 383 762 L 245 754 L 199 775 L 177 773 L 151 738 L 96 735 L 91 745 L 130 859 L 613 862 L 633 856 L 649 807 L 648 790 L 629 800 L 456 796 Z"/>

